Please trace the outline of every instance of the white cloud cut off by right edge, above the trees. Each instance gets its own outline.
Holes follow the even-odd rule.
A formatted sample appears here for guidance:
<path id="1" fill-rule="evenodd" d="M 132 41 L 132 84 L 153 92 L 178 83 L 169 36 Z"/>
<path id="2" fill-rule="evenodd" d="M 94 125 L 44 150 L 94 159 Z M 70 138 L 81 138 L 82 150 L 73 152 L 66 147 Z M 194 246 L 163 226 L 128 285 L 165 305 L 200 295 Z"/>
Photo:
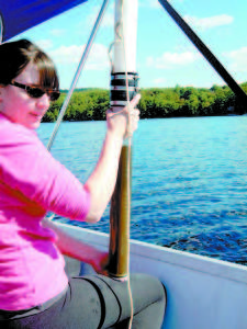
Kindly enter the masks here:
<path id="1" fill-rule="evenodd" d="M 231 70 L 247 72 L 247 47 L 224 54 L 231 60 Z"/>

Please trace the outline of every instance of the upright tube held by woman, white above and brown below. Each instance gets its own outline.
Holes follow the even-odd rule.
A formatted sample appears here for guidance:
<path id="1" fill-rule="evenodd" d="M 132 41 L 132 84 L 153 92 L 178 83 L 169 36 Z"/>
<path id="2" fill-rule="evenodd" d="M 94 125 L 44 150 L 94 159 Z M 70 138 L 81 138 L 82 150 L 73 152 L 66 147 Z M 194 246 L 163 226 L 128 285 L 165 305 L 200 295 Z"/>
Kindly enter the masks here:
<path id="1" fill-rule="evenodd" d="M 115 1 L 115 43 L 111 79 L 111 107 L 125 106 L 136 93 L 136 35 L 138 0 Z M 124 141 L 110 209 L 110 276 L 128 276 L 131 220 L 131 143 Z"/>

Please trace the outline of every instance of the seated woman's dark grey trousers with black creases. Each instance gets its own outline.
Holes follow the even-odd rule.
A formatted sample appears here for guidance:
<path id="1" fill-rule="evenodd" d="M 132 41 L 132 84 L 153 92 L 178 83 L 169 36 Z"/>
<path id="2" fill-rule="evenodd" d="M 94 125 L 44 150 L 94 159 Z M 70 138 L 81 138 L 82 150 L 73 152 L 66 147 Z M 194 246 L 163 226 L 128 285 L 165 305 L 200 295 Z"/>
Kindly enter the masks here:
<path id="1" fill-rule="evenodd" d="M 162 284 L 145 274 L 131 275 L 134 318 L 132 328 L 161 327 L 166 293 Z M 67 292 L 45 310 L 0 320 L 8 329 L 128 328 L 131 303 L 127 282 L 103 275 L 75 276 Z"/>

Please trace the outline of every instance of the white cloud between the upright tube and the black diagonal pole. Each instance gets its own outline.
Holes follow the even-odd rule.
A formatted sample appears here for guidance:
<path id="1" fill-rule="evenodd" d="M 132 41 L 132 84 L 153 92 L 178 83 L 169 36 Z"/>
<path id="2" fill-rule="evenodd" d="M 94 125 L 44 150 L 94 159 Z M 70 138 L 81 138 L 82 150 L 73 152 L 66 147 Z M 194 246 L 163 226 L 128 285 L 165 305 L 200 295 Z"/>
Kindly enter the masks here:
<path id="1" fill-rule="evenodd" d="M 170 69 L 176 66 L 184 66 L 193 63 L 199 58 L 197 53 L 184 52 L 184 53 L 164 53 L 160 57 L 148 57 L 147 66 L 159 69 Z"/>

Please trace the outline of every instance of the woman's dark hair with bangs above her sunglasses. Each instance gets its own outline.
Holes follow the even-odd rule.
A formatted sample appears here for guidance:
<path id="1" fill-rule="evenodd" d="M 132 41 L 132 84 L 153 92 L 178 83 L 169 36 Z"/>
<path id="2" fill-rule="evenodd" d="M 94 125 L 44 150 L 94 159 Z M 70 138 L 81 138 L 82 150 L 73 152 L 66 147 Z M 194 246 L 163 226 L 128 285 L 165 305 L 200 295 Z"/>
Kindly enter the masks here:
<path id="1" fill-rule="evenodd" d="M 41 87 L 59 89 L 58 76 L 53 60 L 27 39 L 0 45 L 0 84 L 10 84 L 30 63 L 33 63 L 40 71 Z"/>

